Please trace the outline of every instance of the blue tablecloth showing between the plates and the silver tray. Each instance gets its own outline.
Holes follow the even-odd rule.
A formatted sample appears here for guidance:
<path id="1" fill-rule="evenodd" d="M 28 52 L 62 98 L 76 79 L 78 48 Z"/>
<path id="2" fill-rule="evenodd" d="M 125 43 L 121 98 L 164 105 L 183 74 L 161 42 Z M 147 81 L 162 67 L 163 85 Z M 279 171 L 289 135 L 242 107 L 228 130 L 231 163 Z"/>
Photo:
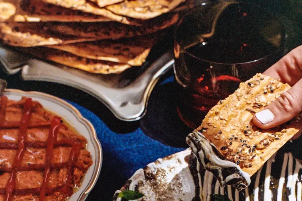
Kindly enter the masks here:
<path id="1" fill-rule="evenodd" d="M 172 81 L 173 77 L 171 76 L 161 80 L 161 84 L 155 88 L 155 93 L 162 91 L 161 86 Z M 185 149 L 160 143 L 146 135 L 141 128 L 129 133 L 113 132 L 93 112 L 79 104 L 68 102 L 74 105 L 93 124 L 103 150 L 103 163 L 99 180 L 87 200 L 110 200 L 115 190 L 120 189 L 137 169 L 145 167 L 160 157 Z"/>

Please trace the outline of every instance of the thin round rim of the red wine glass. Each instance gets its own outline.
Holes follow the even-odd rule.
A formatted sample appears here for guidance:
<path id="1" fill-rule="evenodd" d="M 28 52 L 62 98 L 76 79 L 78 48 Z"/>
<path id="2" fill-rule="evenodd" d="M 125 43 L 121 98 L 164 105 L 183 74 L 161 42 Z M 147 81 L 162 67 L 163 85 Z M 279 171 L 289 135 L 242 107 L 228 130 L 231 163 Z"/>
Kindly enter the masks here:
<path id="1" fill-rule="evenodd" d="M 181 46 L 181 45 L 178 43 L 178 40 L 177 40 L 177 37 L 176 37 L 176 33 L 177 33 L 177 30 L 178 30 L 178 26 L 182 23 L 182 20 L 183 20 L 187 15 L 189 15 L 190 13 L 194 12 L 196 9 L 201 8 L 201 7 L 205 6 L 205 5 L 215 5 L 215 4 L 219 3 L 219 2 L 237 2 L 237 3 L 240 3 L 240 4 L 249 4 L 249 5 L 253 5 L 253 6 L 256 6 L 256 7 L 260 8 L 260 9 L 265 10 L 266 13 L 267 13 L 267 15 L 270 15 L 270 16 L 272 16 L 274 19 L 277 19 L 278 21 L 280 21 L 278 18 L 276 18 L 275 15 L 273 15 L 273 14 L 272 14 L 271 12 L 269 12 L 268 10 L 264 9 L 263 7 L 261 7 L 261 6 L 257 5 L 257 4 L 250 3 L 250 2 L 242 2 L 242 1 L 238 1 L 238 0 L 217 0 L 217 1 L 214 1 L 214 2 L 203 2 L 202 4 L 197 5 L 197 6 L 195 6 L 194 8 L 190 9 L 187 13 L 185 13 L 185 15 L 183 15 L 183 16 L 178 20 L 178 22 L 176 23 L 176 26 L 175 26 L 175 28 L 174 28 L 174 41 L 175 41 L 179 46 Z M 284 26 L 283 26 L 283 24 L 282 24 L 281 22 L 280 22 L 280 26 L 282 27 L 281 33 L 282 33 L 282 35 L 284 36 L 284 35 L 285 35 L 285 30 L 284 30 Z M 192 55 L 191 53 L 189 53 L 189 52 L 186 51 L 185 49 L 183 49 L 183 51 L 184 51 L 185 53 L 187 53 L 188 55 L 194 57 L 194 58 L 197 58 L 197 59 L 199 59 L 199 60 L 201 60 L 201 61 L 204 61 L 204 62 L 208 62 L 208 63 L 210 63 L 210 64 L 218 64 L 218 65 L 244 65 L 244 64 L 249 64 L 249 63 L 261 61 L 261 60 L 263 60 L 263 59 L 265 59 L 265 58 L 267 58 L 267 57 L 270 57 L 271 55 L 273 55 L 273 54 L 279 52 L 279 51 L 281 50 L 282 45 L 284 45 L 283 43 L 284 43 L 284 37 L 281 38 L 281 44 L 280 44 L 280 46 L 279 46 L 276 50 L 271 51 L 270 54 L 265 55 L 265 56 L 263 56 L 263 57 L 261 57 L 261 58 L 252 60 L 252 61 L 248 61 L 248 62 L 237 62 L 237 63 L 213 62 L 213 61 L 209 61 L 209 60 L 207 60 L 207 59 L 203 59 L 203 58 L 197 57 L 197 56 L 195 56 L 195 55 Z"/>

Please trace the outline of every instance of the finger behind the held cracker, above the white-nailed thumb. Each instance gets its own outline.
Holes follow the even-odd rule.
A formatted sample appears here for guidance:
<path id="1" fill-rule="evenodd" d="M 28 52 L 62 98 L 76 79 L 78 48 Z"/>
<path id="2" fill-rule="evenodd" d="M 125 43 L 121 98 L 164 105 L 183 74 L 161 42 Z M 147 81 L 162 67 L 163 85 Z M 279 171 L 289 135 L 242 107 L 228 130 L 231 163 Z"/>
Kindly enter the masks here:
<path id="1" fill-rule="evenodd" d="M 290 51 L 263 74 L 293 86 L 302 78 L 302 45 Z"/>

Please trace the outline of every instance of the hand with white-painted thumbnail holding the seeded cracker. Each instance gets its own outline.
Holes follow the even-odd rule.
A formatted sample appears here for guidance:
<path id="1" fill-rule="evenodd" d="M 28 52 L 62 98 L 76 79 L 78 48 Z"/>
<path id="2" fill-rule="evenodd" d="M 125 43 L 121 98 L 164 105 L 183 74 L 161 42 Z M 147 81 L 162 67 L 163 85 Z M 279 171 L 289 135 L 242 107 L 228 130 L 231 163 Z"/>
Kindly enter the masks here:
<path id="1" fill-rule="evenodd" d="M 291 120 L 302 111 L 302 45 L 290 51 L 263 74 L 292 86 L 253 116 L 257 127 L 269 129 Z M 300 135 L 301 130 L 293 139 Z"/>

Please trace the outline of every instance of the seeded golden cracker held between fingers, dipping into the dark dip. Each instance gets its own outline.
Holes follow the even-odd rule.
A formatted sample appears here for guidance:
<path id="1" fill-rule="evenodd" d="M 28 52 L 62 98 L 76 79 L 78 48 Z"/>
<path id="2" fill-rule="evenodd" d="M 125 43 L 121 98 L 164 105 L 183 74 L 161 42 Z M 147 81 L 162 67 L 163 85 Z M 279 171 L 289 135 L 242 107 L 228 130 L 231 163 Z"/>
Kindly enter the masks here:
<path id="1" fill-rule="evenodd" d="M 253 175 L 302 128 L 301 114 L 273 129 L 264 130 L 253 125 L 253 114 L 288 89 L 288 84 L 259 73 L 240 83 L 235 93 L 218 102 L 196 130 L 213 143 L 227 160 Z"/>

